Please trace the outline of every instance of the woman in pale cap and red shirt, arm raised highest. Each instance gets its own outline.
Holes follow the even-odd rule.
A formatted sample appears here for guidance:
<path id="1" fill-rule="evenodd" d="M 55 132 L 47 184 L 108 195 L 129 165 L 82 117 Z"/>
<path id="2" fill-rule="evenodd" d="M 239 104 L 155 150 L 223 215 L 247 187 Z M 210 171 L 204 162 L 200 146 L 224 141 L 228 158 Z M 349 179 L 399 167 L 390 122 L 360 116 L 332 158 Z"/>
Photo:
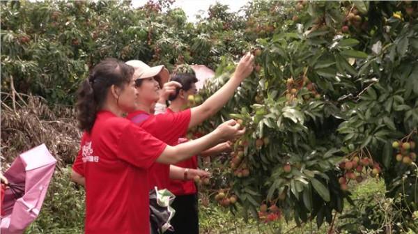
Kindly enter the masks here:
<path id="1" fill-rule="evenodd" d="M 162 81 L 166 80 L 165 77 L 167 77 L 167 72 L 164 72 L 164 69 L 161 68 L 161 66 L 150 68 L 140 61 L 127 61 L 127 64 L 132 65 L 135 70 L 134 76 L 136 78 L 135 82 L 138 91 L 137 109 L 130 112 L 127 115 L 127 118 L 132 120 L 132 122 L 137 123 L 137 125 L 157 139 L 160 139 L 170 146 L 175 146 L 178 143 L 178 139 L 185 136 L 189 128 L 199 125 L 203 120 L 216 114 L 217 111 L 229 101 L 242 80 L 248 77 L 254 70 L 254 56 L 250 53 L 243 56 L 231 79 L 199 106 L 185 109 L 184 111 L 177 113 L 158 115 L 150 114 L 150 107 L 153 102 L 160 99 L 158 91 Z M 168 83 L 171 83 L 172 85 L 175 84 L 175 86 L 181 86 L 175 81 L 170 81 Z M 187 177 L 187 173 L 188 171 L 184 169 L 183 176 L 185 178 Z M 167 189 L 169 187 L 170 177 L 174 177 L 170 173 L 170 166 L 160 163 L 153 164 L 153 166 L 150 167 L 148 177 L 150 189 L 153 189 L 154 187 L 157 187 L 158 189 Z"/>

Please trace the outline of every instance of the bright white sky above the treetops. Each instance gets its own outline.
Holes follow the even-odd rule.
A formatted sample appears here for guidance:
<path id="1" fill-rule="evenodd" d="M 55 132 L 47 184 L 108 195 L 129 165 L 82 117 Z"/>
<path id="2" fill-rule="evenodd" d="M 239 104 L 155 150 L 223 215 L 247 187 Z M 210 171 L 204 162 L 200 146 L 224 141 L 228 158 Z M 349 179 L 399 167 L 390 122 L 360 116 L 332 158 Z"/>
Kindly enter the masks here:
<path id="1" fill-rule="evenodd" d="M 148 0 L 132 0 L 132 6 L 134 8 L 138 6 L 143 6 Z M 176 0 L 173 3 L 173 7 L 182 8 L 189 20 L 189 22 L 194 22 L 196 17 L 195 15 L 201 14 L 199 10 L 203 10 L 207 16 L 208 8 L 210 5 L 215 4 L 216 2 L 228 5 L 231 11 L 238 11 L 242 6 L 245 6 L 250 0 Z"/>

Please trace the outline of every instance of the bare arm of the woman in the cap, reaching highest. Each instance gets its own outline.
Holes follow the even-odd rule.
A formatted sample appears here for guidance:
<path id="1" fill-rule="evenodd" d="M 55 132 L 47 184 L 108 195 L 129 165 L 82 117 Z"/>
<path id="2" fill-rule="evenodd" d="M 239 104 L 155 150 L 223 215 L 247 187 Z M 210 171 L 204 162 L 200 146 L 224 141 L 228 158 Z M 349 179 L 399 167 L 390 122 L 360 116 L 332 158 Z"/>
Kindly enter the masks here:
<path id="1" fill-rule="evenodd" d="M 231 99 L 235 89 L 240 86 L 241 81 L 248 77 L 254 69 L 253 62 L 254 56 L 247 53 L 242 57 L 240 63 L 238 63 L 231 79 L 201 105 L 192 108 L 192 118 L 190 119 L 189 128 L 199 125 L 203 120 L 216 114 Z"/>

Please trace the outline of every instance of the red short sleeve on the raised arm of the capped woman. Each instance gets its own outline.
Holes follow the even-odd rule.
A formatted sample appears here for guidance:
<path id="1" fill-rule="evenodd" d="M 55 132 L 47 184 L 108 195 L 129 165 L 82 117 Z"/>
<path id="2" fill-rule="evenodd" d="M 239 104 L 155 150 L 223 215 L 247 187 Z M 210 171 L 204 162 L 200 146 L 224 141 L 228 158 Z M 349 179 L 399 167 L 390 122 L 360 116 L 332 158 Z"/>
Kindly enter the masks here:
<path id="1" fill-rule="evenodd" d="M 187 134 L 192 111 L 186 109 L 176 113 L 166 112 L 165 114 L 155 116 L 155 118 L 157 118 L 160 129 L 164 130 L 164 134 L 170 136 L 169 138 L 175 137 L 178 139 Z"/>

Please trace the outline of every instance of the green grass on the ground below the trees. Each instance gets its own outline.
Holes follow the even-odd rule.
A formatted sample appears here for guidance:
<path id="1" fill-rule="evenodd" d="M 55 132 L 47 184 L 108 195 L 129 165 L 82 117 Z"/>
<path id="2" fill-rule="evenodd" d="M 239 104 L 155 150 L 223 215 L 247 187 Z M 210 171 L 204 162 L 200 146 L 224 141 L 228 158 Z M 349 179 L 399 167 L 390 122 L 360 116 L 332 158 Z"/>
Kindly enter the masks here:
<path id="1" fill-rule="evenodd" d="M 385 194 L 385 185 L 381 180 L 369 179 L 359 185 L 351 185 L 353 200 L 362 201 L 363 198 L 382 196 Z M 45 200 L 40 217 L 26 230 L 29 233 L 70 234 L 83 233 L 84 223 L 84 191 L 75 187 L 68 181 L 68 171 L 56 176 L 49 188 L 49 194 Z M 346 203 L 348 204 L 348 203 Z M 200 233 L 258 233 L 258 234 L 319 234 L 327 233 L 329 224 L 324 223 L 318 230 L 316 221 L 297 227 L 295 222 L 286 222 L 284 218 L 278 221 L 264 224 L 256 219 L 249 218 L 245 222 L 240 214 L 234 216 L 229 209 L 222 208 L 216 203 L 210 203 L 208 207 L 199 207 Z M 346 205 L 345 212 L 355 210 Z M 336 226 L 350 222 L 350 219 L 336 217 Z M 360 232 L 358 232 L 360 233 Z"/>

